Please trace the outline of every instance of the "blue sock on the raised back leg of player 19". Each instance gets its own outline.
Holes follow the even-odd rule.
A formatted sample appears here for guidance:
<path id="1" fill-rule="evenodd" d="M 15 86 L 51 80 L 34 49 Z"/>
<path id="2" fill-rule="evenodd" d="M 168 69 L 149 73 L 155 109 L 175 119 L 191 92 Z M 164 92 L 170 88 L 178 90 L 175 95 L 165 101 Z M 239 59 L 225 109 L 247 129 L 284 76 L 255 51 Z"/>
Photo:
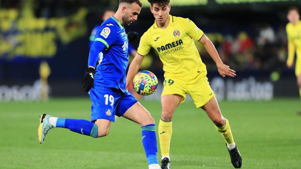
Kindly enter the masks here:
<path id="1" fill-rule="evenodd" d="M 79 134 L 97 138 L 98 127 L 96 124 L 83 119 L 57 118 L 56 127 L 68 128 Z"/>

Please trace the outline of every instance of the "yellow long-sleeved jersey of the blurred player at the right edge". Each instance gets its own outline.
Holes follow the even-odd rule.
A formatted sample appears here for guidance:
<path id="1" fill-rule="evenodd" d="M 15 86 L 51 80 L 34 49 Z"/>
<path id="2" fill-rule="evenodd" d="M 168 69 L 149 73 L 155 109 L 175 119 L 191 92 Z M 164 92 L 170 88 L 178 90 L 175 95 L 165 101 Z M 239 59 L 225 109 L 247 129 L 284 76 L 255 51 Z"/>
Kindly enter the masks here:
<path id="1" fill-rule="evenodd" d="M 296 63 L 301 62 L 301 20 L 296 25 L 287 23 L 286 32 L 288 40 L 287 63 L 293 64 L 295 52 L 297 54 Z"/>

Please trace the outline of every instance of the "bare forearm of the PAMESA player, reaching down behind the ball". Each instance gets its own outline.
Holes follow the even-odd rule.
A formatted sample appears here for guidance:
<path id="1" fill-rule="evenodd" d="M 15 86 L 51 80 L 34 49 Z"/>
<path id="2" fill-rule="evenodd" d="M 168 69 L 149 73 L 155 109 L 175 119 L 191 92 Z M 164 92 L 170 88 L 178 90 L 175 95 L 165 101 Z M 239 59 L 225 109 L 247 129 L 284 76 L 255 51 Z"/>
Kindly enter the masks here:
<path id="1" fill-rule="evenodd" d="M 126 90 L 129 88 L 130 83 L 132 82 L 134 76 L 137 74 L 143 58 L 143 56 L 137 53 L 134 59 L 132 60 L 129 66 L 128 74 L 126 75 Z"/>

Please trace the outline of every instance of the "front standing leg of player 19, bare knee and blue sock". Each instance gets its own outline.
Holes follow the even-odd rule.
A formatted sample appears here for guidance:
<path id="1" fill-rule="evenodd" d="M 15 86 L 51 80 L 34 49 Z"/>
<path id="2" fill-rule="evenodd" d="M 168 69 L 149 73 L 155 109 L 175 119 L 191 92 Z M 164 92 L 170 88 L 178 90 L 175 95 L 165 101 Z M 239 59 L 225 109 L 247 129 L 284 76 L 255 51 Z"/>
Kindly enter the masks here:
<path id="1" fill-rule="evenodd" d="M 141 125 L 142 143 L 147 157 L 149 169 L 160 169 L 157 159 L 157 136 L 155 121 L 151 114 L 139 103 L 135 103 L 124 114 L 123 117 Z"/>

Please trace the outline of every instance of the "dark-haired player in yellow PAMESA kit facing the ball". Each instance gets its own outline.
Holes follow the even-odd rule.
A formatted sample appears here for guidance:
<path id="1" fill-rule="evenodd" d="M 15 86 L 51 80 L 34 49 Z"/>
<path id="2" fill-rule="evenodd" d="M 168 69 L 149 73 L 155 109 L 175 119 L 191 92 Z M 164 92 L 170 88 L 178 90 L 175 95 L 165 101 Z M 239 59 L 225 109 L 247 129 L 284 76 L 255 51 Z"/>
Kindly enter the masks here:
<path id="1" fill-rule="evenodd" d="M 154 48 L 163 63 L 164 89 L 161 95 L 162 115 L 159 122 L 159 139 L 162 169 L 170 168 L 169 145 L 172 136 L 172 115 L 176 107 L 189 94 L 197 108 L 202 108 L 226 141 L 231 163 L 241 167 L 241 155 L 234 143 L 229 122 L 222 116 L 216 97 L 207 81 L 206 66 L 194 45 L 197 40 L 216 62 L 222 77 L 235 76 L 235 71 L 222 63 L 207 36 L 188 18 L 169 15 L 170 0 L 148 0 L 155 23 L 142 35 L 137 54 L 129 66 L 126 88 L 138 72 L 143 56 Z"/>

